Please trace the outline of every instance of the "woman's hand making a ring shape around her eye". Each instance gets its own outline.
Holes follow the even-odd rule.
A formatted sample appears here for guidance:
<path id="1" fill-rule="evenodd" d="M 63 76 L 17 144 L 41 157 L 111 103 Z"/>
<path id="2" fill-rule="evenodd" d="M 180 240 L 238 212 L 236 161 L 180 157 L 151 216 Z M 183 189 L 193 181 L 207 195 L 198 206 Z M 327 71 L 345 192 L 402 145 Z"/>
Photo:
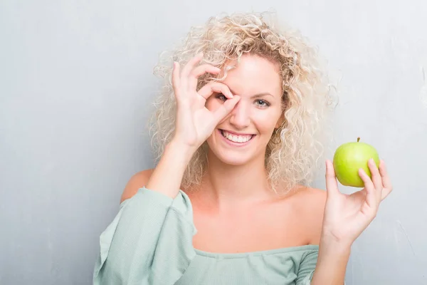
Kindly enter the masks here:
<path id="1" fill-rule="evenodd" d="M 216 128 L 216 125 L 233 110 L 240 99 L 233 96 L 230 89 L 223 83 L 206 83 L 196 91 L 199 76 L 206 72 L 218 74 L 221 69 L 210 64 L 196 66 L 203 58 L 203 54 L 191 58 L 180 72 L 179 63 L 174 63 L 172 85 L 176 98 L 176 125 L 174 141 L 192 151 L 203 144 Z M 195 67 L 196 66 L 196 67 Z M 205 107 L 206 99 L 213 93 L 222 93 L 228 98 L 216 110 Z"/>

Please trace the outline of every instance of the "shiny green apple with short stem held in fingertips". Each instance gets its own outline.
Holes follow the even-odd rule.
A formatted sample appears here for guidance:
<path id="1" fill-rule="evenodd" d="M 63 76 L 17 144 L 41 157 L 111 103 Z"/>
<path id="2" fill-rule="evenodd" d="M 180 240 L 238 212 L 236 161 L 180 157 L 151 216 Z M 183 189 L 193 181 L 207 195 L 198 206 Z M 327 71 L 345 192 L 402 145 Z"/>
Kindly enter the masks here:
<path id="1" fill-rule="evenodd" d="M 371 177 L 368 161 L 374 159 L 379 167 L 379 155 L 376 149 L 365 142 L 347 142 L 340 145 L 334 154 L 334 170 L 338 181 L 345 186 L 364 187 L 364 182 L 359 177 L 359 168 L 362 168 Z"/>

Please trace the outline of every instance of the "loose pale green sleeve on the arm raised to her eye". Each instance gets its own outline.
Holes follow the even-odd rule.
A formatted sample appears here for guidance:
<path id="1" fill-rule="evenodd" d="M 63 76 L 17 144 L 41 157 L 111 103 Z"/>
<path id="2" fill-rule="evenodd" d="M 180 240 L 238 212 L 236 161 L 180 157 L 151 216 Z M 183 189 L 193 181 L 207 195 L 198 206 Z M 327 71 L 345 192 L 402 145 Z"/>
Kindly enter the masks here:
<path id="1" fill-rule="evenodd" d="M 93 284 L 173 285 L 196 255 L 194 234 L 184 192 L 172 199 L 142 187 L 100 235 Z"/>

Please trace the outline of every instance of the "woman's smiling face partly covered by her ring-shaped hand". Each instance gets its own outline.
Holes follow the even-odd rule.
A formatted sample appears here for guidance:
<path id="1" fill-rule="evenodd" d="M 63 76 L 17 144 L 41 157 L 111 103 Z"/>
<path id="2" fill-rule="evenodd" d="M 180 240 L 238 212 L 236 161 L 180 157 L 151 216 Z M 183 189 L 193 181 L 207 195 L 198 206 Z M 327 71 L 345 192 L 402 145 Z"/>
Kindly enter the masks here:
<path id="1" fill-rule="evenodd" d="M 229 165 L 263 161 L 271 135 L 283 118 L 278 64 L 260 56 L 242 56 L 223 83 L 241 100 L 207 139 L 209 149 Z M 206 101 L 206 108 L 215 110 L 225 99 L 222 94 L 214 94 Z"/>

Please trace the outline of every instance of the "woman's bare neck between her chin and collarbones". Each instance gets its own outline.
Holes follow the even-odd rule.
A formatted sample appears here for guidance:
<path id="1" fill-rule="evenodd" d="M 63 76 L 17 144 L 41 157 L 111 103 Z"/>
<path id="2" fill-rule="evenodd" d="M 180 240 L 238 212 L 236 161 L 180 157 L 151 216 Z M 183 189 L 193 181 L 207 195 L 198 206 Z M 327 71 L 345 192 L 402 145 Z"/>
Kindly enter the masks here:
<path id="1" fill-rule="evenodd" d="M 261 201 L 271 196 L 263 155 L 244 165 L 227 165 L 212 153 L 208 154 L 208 160 L 202 192 L 209 202 L 218 207 L 233 207 L 236 203 Z"/>

